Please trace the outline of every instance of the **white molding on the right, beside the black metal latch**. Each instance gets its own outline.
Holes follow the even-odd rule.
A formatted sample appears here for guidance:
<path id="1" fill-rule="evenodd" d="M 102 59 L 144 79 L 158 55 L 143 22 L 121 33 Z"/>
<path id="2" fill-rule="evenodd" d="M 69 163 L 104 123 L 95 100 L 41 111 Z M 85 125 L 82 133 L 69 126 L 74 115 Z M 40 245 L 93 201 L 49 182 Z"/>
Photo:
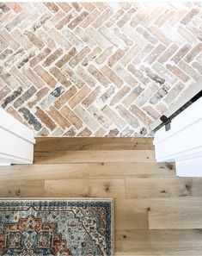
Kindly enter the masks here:
<path id="1" fill-rule="evenodd" d="M 157 162 L 175 162 L 181 177 L 202 177 L 202 97 L 175 116 L 170 130 L 156 131 Z"/>

